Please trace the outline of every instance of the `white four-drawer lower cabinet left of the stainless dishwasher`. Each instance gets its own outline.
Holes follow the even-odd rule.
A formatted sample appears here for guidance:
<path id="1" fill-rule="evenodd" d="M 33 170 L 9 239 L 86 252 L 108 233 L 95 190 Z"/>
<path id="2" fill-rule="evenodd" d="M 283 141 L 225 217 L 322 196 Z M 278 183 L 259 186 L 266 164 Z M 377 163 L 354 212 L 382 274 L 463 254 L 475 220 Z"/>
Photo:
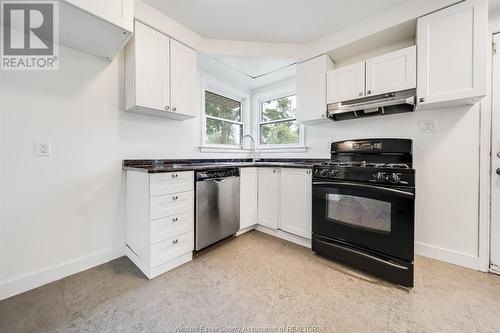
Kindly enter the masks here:
<path id="1" fill-rule="evenodd" d="M 194 174 L 127 171 L 127 257 L 154 278 L 192 259 Z"/>

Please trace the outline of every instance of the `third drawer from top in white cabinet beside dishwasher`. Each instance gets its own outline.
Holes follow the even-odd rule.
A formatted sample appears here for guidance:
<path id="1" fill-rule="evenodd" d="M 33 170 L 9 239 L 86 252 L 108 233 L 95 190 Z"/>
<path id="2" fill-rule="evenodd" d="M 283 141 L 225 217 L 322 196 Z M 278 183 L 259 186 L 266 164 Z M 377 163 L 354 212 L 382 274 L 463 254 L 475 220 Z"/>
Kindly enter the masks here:
<path id="1" fill-rule="evenodd" d="M 186 212 L 151 221 L 151 244 L 194 230 L 194 212 Z"/>

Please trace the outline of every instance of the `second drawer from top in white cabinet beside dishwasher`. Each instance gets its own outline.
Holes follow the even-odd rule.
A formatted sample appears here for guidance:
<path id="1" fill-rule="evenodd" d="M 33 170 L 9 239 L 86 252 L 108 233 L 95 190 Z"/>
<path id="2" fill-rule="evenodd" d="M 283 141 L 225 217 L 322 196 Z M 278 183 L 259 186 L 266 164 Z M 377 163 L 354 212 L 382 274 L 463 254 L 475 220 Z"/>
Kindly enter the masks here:
<path id="1" fill-rule="evenodd" d="M 181 192 L 149 199 L 149 218 L 156 220 L 194 210 L 194 192 Z"/>

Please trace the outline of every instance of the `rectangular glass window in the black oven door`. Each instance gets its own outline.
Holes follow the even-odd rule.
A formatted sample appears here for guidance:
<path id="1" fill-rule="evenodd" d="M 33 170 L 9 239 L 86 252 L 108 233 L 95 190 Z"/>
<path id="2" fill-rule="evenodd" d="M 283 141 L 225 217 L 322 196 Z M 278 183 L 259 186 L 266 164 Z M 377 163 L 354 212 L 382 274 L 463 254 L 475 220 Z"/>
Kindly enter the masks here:
<path id="1" fill-rule="evenodd" d="M 329 220 L 361 229 L 391 232 L 391 203 L 353 195 L 328 194 Z"/>

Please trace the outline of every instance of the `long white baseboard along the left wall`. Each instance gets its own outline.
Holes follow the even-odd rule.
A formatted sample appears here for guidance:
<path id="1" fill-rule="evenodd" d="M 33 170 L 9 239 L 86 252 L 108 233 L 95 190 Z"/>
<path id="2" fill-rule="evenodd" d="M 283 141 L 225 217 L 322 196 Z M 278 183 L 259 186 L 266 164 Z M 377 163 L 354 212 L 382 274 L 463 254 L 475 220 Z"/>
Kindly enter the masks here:
<path id="1" fill-rule="evenodd" d="M 69 260 L 39 271 L 0 282 L 0 300 L 60 280 L 69 275 L 104 264 L 125 254 L 125 246 Z"/>

